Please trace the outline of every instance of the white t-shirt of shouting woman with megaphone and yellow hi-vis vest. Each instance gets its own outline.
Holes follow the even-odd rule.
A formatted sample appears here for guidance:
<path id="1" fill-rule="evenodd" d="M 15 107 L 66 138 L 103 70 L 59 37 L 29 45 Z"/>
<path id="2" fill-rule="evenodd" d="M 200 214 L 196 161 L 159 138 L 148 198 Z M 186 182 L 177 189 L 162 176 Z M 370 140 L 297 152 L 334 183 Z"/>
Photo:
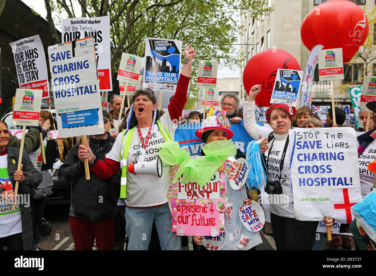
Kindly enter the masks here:
<path id="1" fill-rule="evenodd" d="M 174 137 L 176 125 L 171 121 L 170 114 L 168 111 L 162 115 L 159 119 L 161 125 L 164 125 L 171 137 Z M 149 127 L 141 128 L 141 133 L 144 139 L 147 136 Z M 119 133 L 116 138 L 115 144 L 111 151 L 106 155 L 106 158 L 110 158 L 114 161 L 120 162 L 120 149 L 121 140 L 123 135 Z M 126 137 L 124 137 L 126 139 Z M 158 125 L 154 125 L 154 130 L 150 135 L 149 143 L 145 152 L 144 162 L 150 162 L 158 159 L 158 152 L 160 149 L 155 148 L 156 145 L 166 142 L 162 136 Z M 168 142 L 168 141 L 167 141 Z M 138 148 L 139 135 L 137 128 L 133 131 L 132 139 L 130 141 L 130 147 L 127 157 L 127 165 L 135 163 L 135 154 Z M 152 207 L 157 205 L 162 205 L 167 203 L 167 189 L 170 181 L 170 167 L 162 163 L 162 176 L 158 177 L 153 174 L 139 173 L 132 174 L 127 173 L 127 198 L 125 199 L 125 204 L 128 207 Z"/>

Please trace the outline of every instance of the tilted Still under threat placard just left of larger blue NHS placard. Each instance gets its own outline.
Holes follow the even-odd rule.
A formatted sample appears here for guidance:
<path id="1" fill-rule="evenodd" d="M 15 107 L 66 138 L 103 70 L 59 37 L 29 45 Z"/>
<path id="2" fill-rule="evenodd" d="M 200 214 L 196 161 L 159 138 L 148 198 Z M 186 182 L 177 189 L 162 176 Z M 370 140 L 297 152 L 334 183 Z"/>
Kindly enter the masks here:
<path id="1" fill-rule="evenodd" d="M 117 80 L 128 81 L 139 86 L 139 74 L 142 57 L 122 53 Z"/>

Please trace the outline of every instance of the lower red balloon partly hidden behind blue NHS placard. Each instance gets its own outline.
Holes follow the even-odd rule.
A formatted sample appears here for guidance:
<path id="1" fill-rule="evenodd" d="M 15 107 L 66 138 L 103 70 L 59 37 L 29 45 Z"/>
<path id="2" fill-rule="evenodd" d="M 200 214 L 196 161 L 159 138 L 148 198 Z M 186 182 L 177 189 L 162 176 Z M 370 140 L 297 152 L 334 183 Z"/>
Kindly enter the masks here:
<path id="1" fill-rule="evenodd" d="M 255 54 L 244 68 L 243 85 L 247 94 L 255 84 L 262 84 L 261 92 L 256 97 L 260 106 L 270 106 L 277 69 L 300 70 L 299 63 L 289 53 L 279 49 L 267 49 Z"/>

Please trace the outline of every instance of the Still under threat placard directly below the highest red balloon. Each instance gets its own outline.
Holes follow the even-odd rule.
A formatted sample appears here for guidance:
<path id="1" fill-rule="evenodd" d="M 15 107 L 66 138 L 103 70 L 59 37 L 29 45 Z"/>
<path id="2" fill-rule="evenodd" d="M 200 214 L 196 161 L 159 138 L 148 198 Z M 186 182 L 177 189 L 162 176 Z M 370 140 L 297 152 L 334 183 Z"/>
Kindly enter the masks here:
<path id="1" fill-rule="evenodd" d="M 318 80 L 343 80 L 342 48 L 318 51 Z"/>

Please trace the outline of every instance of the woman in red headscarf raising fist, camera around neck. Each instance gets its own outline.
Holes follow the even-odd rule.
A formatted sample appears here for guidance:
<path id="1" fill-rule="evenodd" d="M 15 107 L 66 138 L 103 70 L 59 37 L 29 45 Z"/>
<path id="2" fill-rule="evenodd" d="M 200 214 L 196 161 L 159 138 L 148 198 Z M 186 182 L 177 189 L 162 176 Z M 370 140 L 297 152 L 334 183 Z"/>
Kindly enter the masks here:
<path id="1" fill-rule="evenodd" d="M 288 131 L 296 109 L 286 104 L 271 104 L 265 116 L 273 131 L 260 127 L 255 121 L 255 98 L 260 91 L 261 85 L 253 86 L 248 102 L 243 103 L 244 127 L 255 140 L 261 136 L 268 137 L 274 132 L 274 138 L 266 145 L 268 149 L 262 153 L 268 167 L 266 192 L 270 194 L 270 219 L 276 247 L 277 250 L 310 250 L 318 222 L 295 219 L 293 192 L 290 187 Z M 284 200 L 281 202 L 280 199 Z M 333 224 L 332 219 L 325 221 L 327 226 Z"/>

